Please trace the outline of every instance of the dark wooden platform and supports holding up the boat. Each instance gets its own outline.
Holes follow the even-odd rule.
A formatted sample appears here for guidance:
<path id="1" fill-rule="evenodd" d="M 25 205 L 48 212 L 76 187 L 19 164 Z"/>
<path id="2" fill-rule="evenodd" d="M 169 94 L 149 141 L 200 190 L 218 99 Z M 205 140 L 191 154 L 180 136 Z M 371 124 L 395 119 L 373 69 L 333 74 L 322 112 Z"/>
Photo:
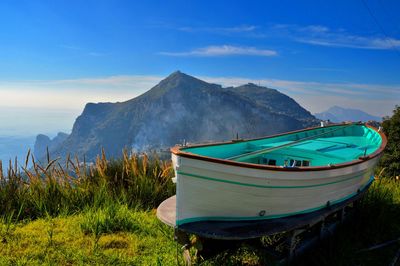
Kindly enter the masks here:
<path id="1" fill-rule="evenodd" d="M 300 254 L 309 250 L 318 241 L 332 234 L 338 225 L 343 223 L 357 206 L 357 202 L 368 187 L 359 191 L 346 201 L 329 204 L 326 208 L 301 215 L 285 218 L 259 221 L 200 221 L 176 224 L 176 197 L 163 201 L 157 209 L 157 217 L 163 223 L 175 229 L 175 240 L 182 246 L 182 252 L 187 264 L 190 264 L 189 249 L 192 247 L 189 236 L 195 235 L 201 239 L 214 240 L 248 240 L 288 232 L 287 253 L 278 262 L 290 262 Z M 303 237 L 307 232 L 316 234 Z M 299 236 L 303 238 L 299 241 Z"/>

